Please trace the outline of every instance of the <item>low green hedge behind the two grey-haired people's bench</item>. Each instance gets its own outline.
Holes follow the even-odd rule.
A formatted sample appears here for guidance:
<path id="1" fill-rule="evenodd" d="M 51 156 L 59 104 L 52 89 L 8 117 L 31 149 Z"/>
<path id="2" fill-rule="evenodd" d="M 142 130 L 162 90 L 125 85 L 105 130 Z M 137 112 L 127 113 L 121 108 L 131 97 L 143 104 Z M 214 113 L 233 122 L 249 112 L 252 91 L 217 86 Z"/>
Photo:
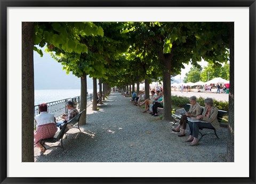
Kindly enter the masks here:
<path id="1" fill-rule="evenodd" d="M 187 103 L 189 103 L 189 97 L 180 97 L 172 95 L 171 97 L 172 105 L 178 106 L 178 107 L 184 107 Z M 204 98 L 199 97 L 197 98 L 197 102 L 200 104 L 200 106 L 204 107 Z M 226 101 L 217 101 L 213 99 L 214 106 L 217 107 L 219 110 L 226 110 L 228 111 L 228 102 Z"/>

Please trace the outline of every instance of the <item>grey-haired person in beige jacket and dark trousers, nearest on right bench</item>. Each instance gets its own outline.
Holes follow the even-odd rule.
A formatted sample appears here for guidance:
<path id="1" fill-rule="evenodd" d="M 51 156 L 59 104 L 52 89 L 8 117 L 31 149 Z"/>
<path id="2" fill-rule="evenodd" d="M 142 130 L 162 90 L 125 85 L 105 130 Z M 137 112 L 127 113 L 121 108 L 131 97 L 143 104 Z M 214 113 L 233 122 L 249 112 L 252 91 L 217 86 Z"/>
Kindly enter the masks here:
<path id="1" fill-rule="evenodd" d="M 190 122 L 189 124 L 189 138 L 186 142 L 191 142 L 189 146 L 196 146 L 198 145 L 198 133 L 199 128 L 214 128 L 215 130 L 220 129 L 220 124 L 218 121 L 218 108 L 213 105 L 212 98 L 206 98 L 204 100 L 204 111 L 202 115 L 196 117 L 198 122 Z M 200 122 L 205 121 L 205 122 Z"/>

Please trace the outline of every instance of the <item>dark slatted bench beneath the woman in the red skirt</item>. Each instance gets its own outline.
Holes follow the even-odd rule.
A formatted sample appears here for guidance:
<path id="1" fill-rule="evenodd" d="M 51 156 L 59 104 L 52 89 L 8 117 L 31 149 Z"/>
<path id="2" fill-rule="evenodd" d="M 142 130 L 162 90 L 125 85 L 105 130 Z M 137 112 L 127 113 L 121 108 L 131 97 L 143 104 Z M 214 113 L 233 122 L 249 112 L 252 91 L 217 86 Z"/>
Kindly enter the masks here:
<path id="1" fill-rule="evenodd" d="M 66 135 L 66 139 L 67 139 L 67 134 L 66 133 L 67 133 L 67 131 L 69 131 L 72 128 L 79 129 L 79 131 L 81 132 L 81 130 L 79 128 L 79 123 L 78 122 L 79 122 L 79 119 L 80 119 L 80 117 L 81 117 L 81 115 L 82 115 L 82 113 L 84 111 L 85 111 L 85 109 L 83 111 L 81 111 L 78 115 L 76 115 L 75 117 L 70 119 L 67 123 L 65 123 L 62 126 L 62 128 L 60 130 L 60 133 L 57 136 L 57 138 L 41 139 L 41 140 L 39 140 L 39 145 L 41 145 L 44 148 L 44 150 L 47 150 L 47 149 L 50 149 L 50 148 L 53 148 L 53 147 L 61 147 L 63 150 L 65 150 L 64 146 L 63 146 L 63 142 L 62 142 L 63 136 Z M 76 123 L 77 123 L 77 127 L 74 127 L 74 125 Z M 46 142 L 48 142 L 48 143 L 55 143 L 55 142 L 57 142 L 59 140 L 60 140 L 60 144 L 57 145 L 57 146 L 50 146 L 50 147 L 47 147 L 47 148 L 44 146 L 44 143 L 46 143 Z"/>

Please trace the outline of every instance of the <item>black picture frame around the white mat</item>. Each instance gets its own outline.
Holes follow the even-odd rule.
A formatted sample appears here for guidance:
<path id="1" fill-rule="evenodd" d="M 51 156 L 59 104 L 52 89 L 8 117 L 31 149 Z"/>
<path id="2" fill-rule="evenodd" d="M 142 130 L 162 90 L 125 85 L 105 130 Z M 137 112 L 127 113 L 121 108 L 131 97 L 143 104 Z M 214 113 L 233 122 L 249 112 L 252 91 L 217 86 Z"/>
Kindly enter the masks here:
<path id="1" fill-rule="evenodd" d="M 255 0 L 80 0 L 80 1 L 36 1 L 0 0 L 0 55 L 1 55 L 1 93 L 0 93 L 0 181 L 1 183 L 255 183 Z M 7 177 L 7 7 L 249 7 L 250 8 L 250 168 L 248 178 L 8 178 Z M 247 107 L 246 107 L 247 108 Z M 242 126 L 241 126 L 242 128 Z M 86 169 L 85 169 L 86 172 Z"/>

